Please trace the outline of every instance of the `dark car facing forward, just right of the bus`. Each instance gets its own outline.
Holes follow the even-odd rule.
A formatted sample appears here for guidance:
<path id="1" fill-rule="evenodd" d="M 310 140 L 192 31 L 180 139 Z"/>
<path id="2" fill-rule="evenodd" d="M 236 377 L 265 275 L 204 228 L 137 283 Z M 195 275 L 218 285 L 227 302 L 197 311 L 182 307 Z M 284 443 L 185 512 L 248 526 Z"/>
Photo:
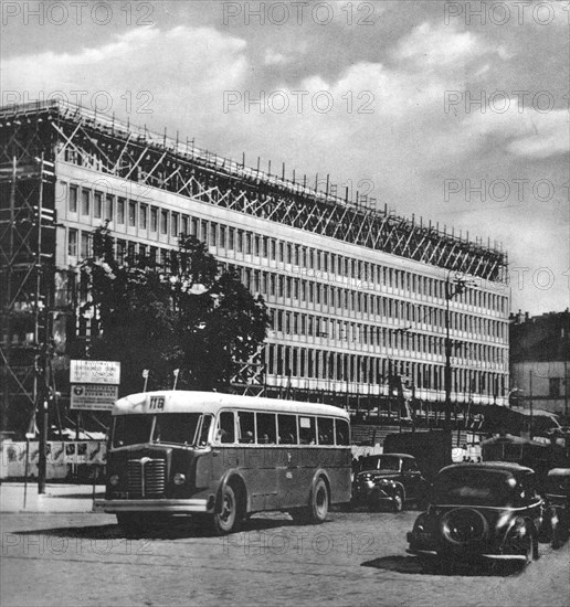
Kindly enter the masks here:
<path id="1" fill-rule="evenodd" d="M 352 505 L 370 511 L 389 505 L 394 512 L 410 502 L 422 503 L 428 483 L 415 458 L 407 454 L 368 456 L 359 461 L 352 483 Z"/>

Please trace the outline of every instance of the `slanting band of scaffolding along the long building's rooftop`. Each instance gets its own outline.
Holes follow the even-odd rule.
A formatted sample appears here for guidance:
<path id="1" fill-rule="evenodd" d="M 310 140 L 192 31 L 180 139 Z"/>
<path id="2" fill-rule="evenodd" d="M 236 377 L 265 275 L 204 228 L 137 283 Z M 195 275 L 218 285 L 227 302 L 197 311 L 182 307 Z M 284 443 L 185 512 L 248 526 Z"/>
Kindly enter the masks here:
<path id="1" fill-rule="evenodd" d="M 65 161 L 159 188 L 202 202 L 329 236 L 350 244 L 503 283 L 507 255 L 498 247 L 441 231 L 431 222 L 397 216 L 336 195 L 327 178 L 325 190 L 251 168 L 114 117 L 62 100 L 0 108 L 1 129 L 21 129 L 22 121 L 42 121 L 46 160 Z M 17 126 L 17 123 L 20 123 Z M 4 136 L 6 138 L 6 131 Z M 6 139 L 4 139 L 6 140 Z M 8 148 L 15 146 L 8 138 Z M 49 155 L 51 152 L 51 158 Z M 13 156 L 6 149 L 8 162 Z M 324 181 L 324 180 L 323 180 Z"/>

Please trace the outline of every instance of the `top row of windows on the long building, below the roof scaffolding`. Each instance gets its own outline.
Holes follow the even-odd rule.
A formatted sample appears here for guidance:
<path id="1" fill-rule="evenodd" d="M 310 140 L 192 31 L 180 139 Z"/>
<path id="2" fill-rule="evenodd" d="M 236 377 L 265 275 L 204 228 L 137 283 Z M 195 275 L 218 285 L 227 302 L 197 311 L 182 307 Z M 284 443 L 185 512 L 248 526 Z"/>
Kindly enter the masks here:
<path id="1" fill-rule="evenodd" d="M 86 217 L 91 217 L 93 211 L 95 220 L 109 220 L 116 224 L 115 228 L 126 224 L 175 238 L 180 234 L 192 234 L 209 246 L 221 249 L 218 252 L 220 256 L 224 252 L 234 252 L 288 264 L 307 277 L 329 280 L 345 277 L 357 281 L 360 289 L 383 286 L 416 296 L 442 300 L 446 297 L 446 284 L 441 279 L 318 251 L 86 188 L 70 187 L 68 210 Z M 507 298 L 496 294 L 467 288 L 455 299 L 469 306 L 506 312 Z"/>

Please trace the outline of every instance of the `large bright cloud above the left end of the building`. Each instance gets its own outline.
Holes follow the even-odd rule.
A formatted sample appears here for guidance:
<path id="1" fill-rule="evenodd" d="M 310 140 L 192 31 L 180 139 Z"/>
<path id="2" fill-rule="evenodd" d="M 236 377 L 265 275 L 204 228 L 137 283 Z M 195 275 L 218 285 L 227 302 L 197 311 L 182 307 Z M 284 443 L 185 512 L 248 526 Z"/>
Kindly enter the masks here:
<path id="1" fill-rule="evenodd" d="M 176 128 L 184 126 L 181 116 L 189 111 L 200 126 L 208 124 L 213 106 L 221 107 L 225 88 L 242 85 L 245 50 L 244 40 L 213 28 L 138 28 L 76 53 L 10 57 L 3 62 L 1 88 L 4 100 L 9 94 L 34 100 L 59 90 L 72 103 L 81 98 L 87 107 L 129 114 L 135 123 L 152 121 L 157 113 L 162 125 L 172 118 L 175 127 L 176 119 Z"/>

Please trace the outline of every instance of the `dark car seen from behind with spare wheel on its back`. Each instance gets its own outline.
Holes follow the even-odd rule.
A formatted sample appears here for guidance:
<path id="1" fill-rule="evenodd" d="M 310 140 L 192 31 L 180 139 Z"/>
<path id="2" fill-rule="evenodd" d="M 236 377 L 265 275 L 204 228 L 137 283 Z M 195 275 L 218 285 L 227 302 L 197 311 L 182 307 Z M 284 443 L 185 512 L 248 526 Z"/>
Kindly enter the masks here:
<path id="1" fill-rule="evenodd" d="M 431 505 L 408 533 L 423 563 L 538 558 L 545 502 L 530 468 L 503 461 L 455 464 L 435 477 Z"/>

